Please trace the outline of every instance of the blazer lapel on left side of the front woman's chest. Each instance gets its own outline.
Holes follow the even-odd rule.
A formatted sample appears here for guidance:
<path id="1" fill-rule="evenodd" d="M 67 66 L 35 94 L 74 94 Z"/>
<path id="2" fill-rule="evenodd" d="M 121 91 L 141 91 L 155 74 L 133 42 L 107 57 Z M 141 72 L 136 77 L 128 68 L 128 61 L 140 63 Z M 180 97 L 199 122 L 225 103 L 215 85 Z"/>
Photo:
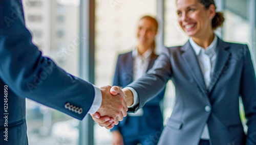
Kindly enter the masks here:
<path id="1" fill-rule="evenodd" d="M 196 83 L 203 89 L 206 90 L 203 75 L 201 72 L 201 68 L 199 66 L 197 56 L 190 45 L 189 41 L 186 42 L 185 45 L 183 45 L 180 48 L 181 51 L 184 53 L 182 54 L 182 57 L 185 59 L 185 62 L 187 64 L 187 67 L 189 68 L 191 75 L 193 76 Z"/>

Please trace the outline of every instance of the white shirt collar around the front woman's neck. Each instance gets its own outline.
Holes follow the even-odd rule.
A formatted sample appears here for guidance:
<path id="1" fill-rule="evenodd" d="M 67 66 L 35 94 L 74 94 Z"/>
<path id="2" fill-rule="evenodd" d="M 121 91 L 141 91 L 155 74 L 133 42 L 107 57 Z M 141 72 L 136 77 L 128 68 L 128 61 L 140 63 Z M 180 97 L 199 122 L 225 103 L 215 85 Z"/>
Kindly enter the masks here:
<path id="1" fill-rule="evenodd" d="M 216 54 L 217 42 L 218 42 L 217 40 L 218 40 L 217 36 L 214 35 L 214 40 L 211 42 L 211 44 L 208 47 L 206 47 L 205 51 L 213 52 Z M 197 56 L 200 54 L 201 50 L 204 50 L 204 48 L 199 46 L 191 37 L 189 38 L 189 43 L 191 44 Z"/>

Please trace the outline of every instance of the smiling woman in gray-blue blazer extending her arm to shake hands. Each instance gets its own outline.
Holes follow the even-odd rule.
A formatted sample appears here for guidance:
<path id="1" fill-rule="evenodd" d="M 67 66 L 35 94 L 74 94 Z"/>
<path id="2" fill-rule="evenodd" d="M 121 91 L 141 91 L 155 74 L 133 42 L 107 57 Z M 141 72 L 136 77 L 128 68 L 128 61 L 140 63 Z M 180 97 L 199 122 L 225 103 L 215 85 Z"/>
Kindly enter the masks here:
<path id="1" fill-rule="evenodd" d="M 248 46 L 214 33 L 224 21 L 214 0 L 176 5 L 179 25 L 190 38 L 183 46 L 164 48 L 146 75 L 122 89 L 127 106 L 143 107 L 171 79 L 175 106 L 158 144 L 256 144 L 256 78 Z"/>

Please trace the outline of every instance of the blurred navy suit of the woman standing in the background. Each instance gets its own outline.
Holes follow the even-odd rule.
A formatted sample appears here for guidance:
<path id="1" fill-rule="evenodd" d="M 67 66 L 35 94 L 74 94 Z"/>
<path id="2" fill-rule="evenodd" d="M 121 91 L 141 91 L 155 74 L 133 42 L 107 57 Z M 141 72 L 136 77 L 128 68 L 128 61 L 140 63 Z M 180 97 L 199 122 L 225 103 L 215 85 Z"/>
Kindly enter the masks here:
<path id="1" fill-rule="evenodd" d="M 152 68 L 158 55 L 152 54 L 147 70 Z M 116 71 L 113 85 L 125 87 L 133 81 L 133 56 L 132 52 L 120 54 L 117 59 Z M 123 136 L 124 144 L 157 144 L 159 135 L 163 129 L 163 116 L 159 102 L 163 99 L 164 89 L 144 107 L 142 116 L 126 116 L 111 131 L 118 130 Z M 152 136 L 154 136 L 152 138 Z M 133 143 L 131 143 L 133 142 Z"/>

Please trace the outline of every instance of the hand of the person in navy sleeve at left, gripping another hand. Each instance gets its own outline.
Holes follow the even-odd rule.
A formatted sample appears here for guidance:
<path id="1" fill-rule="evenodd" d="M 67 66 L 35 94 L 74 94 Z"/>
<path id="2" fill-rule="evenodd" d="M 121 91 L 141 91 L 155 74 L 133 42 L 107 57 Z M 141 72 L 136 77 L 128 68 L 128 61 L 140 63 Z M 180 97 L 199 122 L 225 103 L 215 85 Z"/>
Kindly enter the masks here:
<path id="1" fill-rule="evenodd" d="M 97 112 L 100 116 L 115 118 L 114 122 L 115 125 L 117 125 L 118 120 L 123 120 L 123 117 L 127 115 L 128 108 L 125 102 L 124 93 L 121 88 L 117 86 L 104 86 L 100 87 L 100 90 L 102 94 L 102 103 Z M 95 118 L 93 119 L 95 120 Z"/>

